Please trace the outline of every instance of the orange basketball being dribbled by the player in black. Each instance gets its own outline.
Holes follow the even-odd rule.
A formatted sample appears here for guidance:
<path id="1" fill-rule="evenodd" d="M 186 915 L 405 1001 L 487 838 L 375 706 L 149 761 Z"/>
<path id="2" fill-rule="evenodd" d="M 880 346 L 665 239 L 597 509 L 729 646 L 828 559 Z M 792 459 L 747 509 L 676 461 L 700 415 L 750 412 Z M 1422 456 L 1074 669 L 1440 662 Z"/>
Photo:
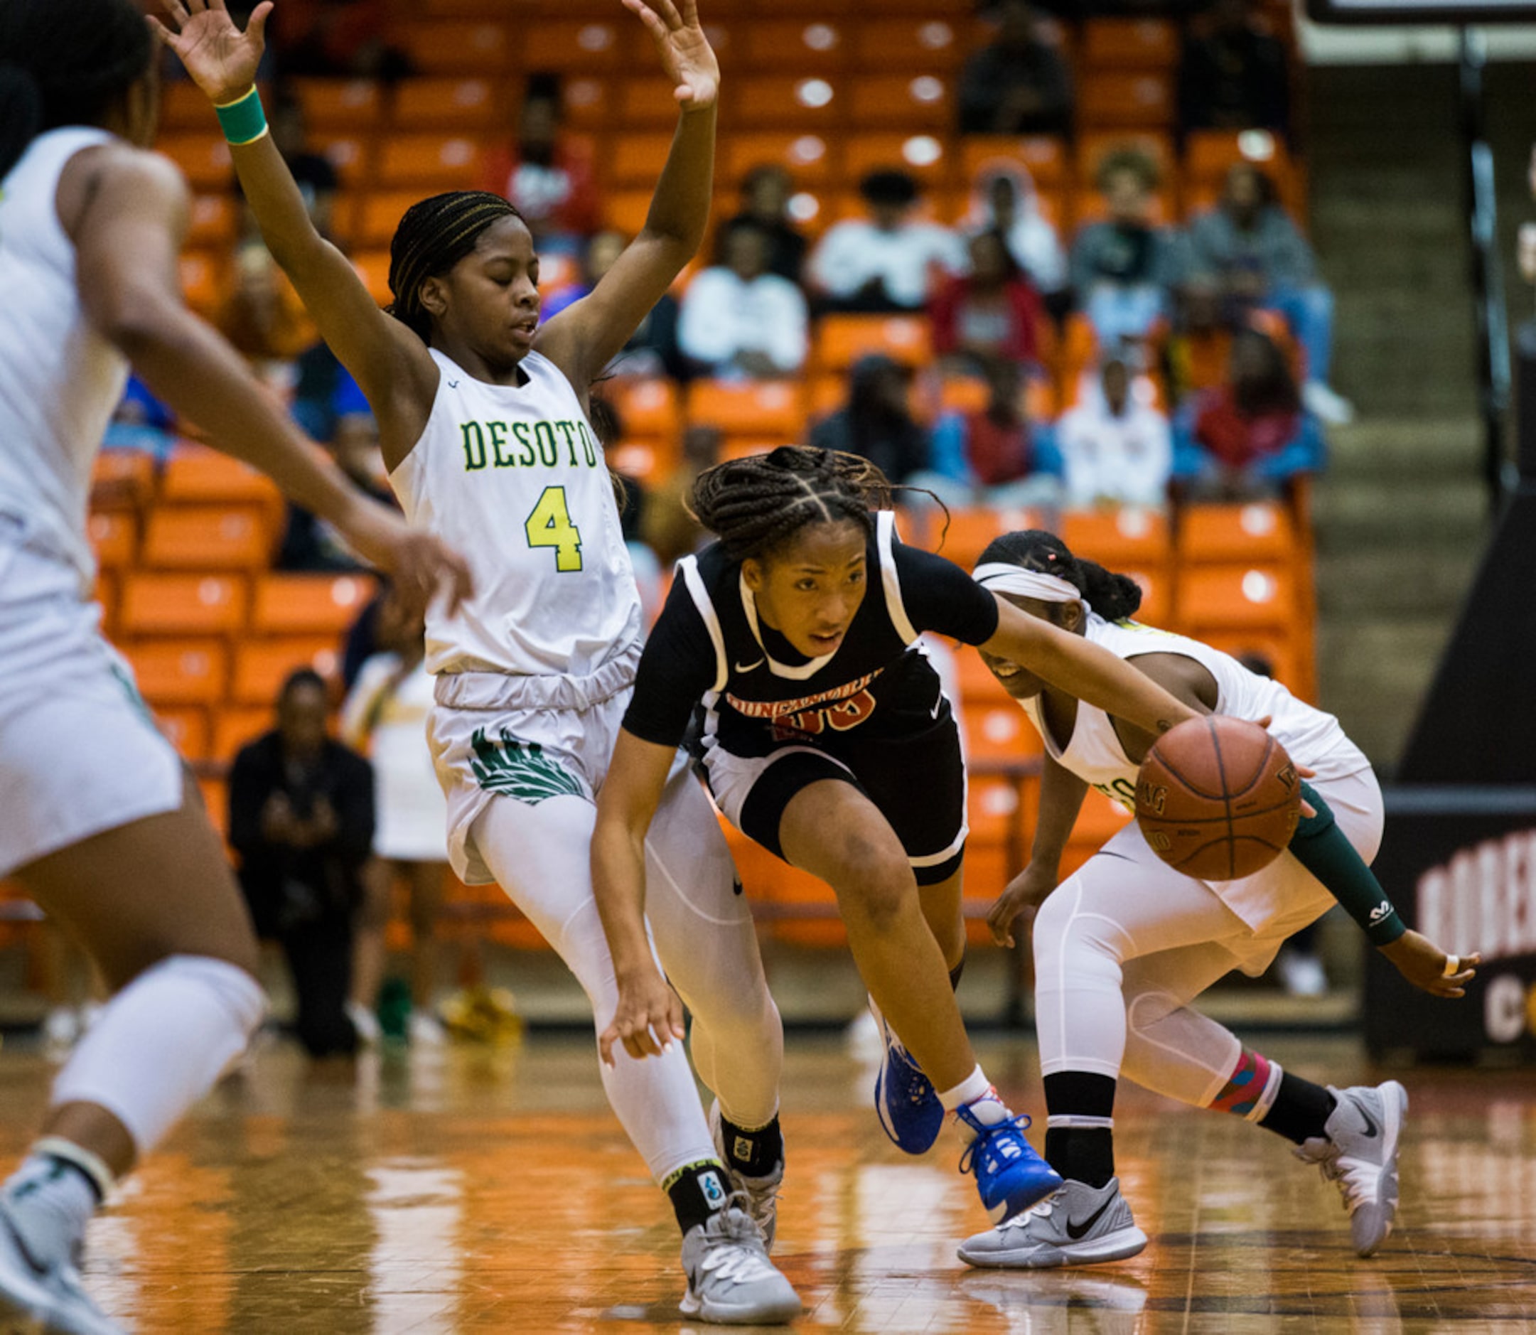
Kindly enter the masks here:
<path id="1" fill-rule="evenodd" d="M 1152 851 L 1200 880 L 1238 880 L 1273 862 L 1301 816 L 1290 756 L 1256 724 L 1209 714 L 1169 728 L 1137 776 Z"/>

